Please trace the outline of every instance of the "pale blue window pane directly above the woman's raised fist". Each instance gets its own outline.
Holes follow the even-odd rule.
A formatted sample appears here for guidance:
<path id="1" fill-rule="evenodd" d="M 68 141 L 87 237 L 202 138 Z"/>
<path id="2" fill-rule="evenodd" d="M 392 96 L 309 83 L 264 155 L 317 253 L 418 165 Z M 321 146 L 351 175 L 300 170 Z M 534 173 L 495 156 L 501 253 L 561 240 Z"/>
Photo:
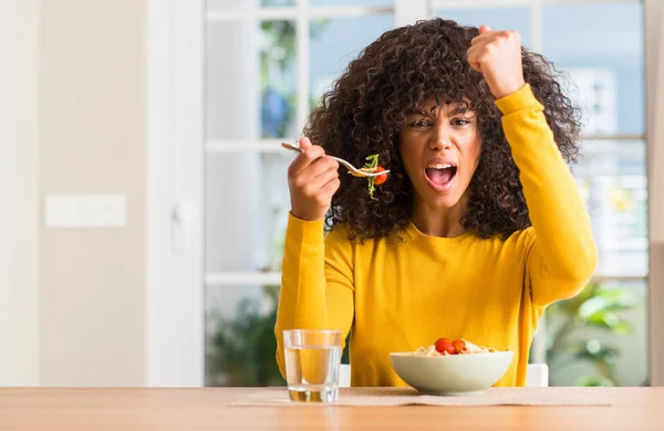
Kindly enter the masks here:
<path id="1" fill-rule="evenodd" d="M 521 35 L 521 43 L 525 46 L 530 46 L 532 41 L 528 8 L 439 9 L 435 11 L 435 15 L 454 20 L 461 25 L 487 24 L 495 30 L 515 30 Z"/>

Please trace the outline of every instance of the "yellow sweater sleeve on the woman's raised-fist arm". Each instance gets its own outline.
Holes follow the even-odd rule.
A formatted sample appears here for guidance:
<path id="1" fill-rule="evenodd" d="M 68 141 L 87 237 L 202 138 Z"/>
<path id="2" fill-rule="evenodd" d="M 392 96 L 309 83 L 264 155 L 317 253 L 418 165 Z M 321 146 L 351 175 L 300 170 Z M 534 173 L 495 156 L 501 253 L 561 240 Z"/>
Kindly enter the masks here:
<path id="1" fill-rule="evenodd" d="M 590 218 L 530 85 L 496 105 L 532 222 L 526 243 L 527 284 L 533 306 L 546 307 L 577 295 L 594 273 Z"/>

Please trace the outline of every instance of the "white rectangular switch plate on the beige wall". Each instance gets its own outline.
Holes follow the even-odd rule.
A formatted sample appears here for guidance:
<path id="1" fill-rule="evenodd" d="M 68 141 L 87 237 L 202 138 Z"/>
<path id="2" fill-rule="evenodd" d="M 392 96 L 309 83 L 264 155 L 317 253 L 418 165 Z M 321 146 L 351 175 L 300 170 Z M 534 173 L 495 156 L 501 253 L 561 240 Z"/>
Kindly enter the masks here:
<path id="1" fill-rule="evenodd" d="M 44 201 L 46 228 L 122 228 L 127 223 L 125 195 L 49 195 Z"/>

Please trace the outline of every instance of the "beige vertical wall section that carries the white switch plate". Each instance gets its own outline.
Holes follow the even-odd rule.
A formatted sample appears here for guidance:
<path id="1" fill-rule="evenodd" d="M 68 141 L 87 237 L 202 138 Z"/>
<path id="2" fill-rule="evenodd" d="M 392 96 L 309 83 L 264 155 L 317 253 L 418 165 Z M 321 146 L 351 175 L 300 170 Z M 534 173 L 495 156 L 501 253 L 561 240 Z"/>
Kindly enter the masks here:
<path id="1" fill-rule="evenodd" d="M 144 2 L 42 0 L 40 27 L 41 197 L 127 199 L 126 227 L 40 230 L 40 383 L 143 386 Z"/>

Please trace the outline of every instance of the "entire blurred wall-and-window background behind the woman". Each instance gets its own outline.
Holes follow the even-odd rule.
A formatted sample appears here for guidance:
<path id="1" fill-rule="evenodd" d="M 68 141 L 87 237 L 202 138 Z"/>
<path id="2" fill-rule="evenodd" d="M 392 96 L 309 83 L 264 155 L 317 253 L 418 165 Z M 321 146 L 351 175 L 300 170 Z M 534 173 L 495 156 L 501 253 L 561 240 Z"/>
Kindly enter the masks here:
<path id="1" fill-rule="evenodd" d="M 658 1 L 0 6 L 0 385 L 282 385 L 279 143 L 363 46 L 432 17 L 517 30 L 582 112 L 573 174 L 600 262 L 548 309 L 531 361 L 553 386 L 664 375 Z"/>

